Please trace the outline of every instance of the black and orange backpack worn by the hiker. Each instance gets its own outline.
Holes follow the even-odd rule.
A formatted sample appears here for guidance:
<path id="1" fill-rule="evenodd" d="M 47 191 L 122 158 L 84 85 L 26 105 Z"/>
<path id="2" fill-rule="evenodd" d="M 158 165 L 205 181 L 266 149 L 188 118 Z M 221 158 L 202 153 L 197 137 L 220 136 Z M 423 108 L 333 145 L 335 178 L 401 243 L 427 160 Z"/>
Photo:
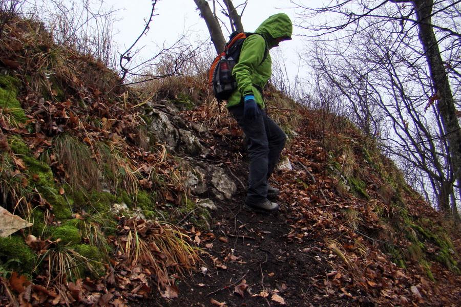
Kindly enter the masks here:
<path id="1" fill-rule="evenodd" d="M 213 61 L 209 69 L 209 84 L 212 86 L 213 94 L 219 101 L 227 100 L 229 96 L 237 89 L 237 82 L 232 76 L 232 70 L 239 61 L 240 51 L 242 50 L 243 41 L 250 35 L 259 33 L 234 32 L 229 37 L 224 51 L 220 53 Z M 262 36 L 262 35 L 261 35 Z M 267 57 L 267 48 L 264 51 L 264 57 Z M 260 64 L 261 64 L 260 63 Z"/>

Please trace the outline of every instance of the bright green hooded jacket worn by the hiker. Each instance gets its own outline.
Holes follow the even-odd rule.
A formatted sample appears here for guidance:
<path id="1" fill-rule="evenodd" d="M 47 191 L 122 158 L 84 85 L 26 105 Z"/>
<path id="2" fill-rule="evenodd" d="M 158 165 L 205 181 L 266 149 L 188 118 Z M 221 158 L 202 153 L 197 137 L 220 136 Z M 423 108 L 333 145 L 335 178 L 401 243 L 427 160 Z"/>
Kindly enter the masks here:
<path id="1" fill-rule="evenodd" d="M 278 13 L 270 16 L 256 29 L 261 35 L 248 36 L 242 45 L 239 62 L 235 65 L 232 75 L 237 80 L 237 90 L 227 100 L 227 107 L 241 102 L 242 96 L 255 95 L 256 103 L 263 108 L 264 99 L 258 88 L 261 89 L 272 74 L 272 60 L 267 53 L 263 61 L 265 50 L 278 46 L 276 38 L 291 39 L 293 26 L 288 15 Z"/>

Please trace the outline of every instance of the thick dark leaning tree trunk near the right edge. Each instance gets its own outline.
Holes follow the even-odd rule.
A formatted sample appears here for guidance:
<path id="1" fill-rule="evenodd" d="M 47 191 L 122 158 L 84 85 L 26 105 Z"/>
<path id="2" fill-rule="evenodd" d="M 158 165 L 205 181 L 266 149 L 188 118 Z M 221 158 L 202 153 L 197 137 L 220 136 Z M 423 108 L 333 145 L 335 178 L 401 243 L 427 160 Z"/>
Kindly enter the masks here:
<path id="1" fill-rule="evenodd" d="M 424 48 L 437 95 L 436 108 L 442 118 L 445 137 L 449 144 L 451 165 L 459 186 L 461 183 L 461 129 L 456 117 L 456 108 L 448 76 L 432 28 L 433 0 L 412 0 L 412 3 L 416 10 L 416 18 L 419 21 L 420 41 Z"/>

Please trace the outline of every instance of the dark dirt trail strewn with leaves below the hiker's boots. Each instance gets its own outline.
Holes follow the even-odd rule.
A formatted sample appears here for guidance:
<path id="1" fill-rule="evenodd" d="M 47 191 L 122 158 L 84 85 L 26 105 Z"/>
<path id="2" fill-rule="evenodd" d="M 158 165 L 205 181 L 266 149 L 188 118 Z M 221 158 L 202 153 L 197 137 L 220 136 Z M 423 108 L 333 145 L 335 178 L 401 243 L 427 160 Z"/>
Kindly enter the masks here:
<path id="1" fill-rule="evenodd" d="M 244 192 L 229 204 L 218 203 L 204 244 L 206 270 L 181 279 L 178 298 L 155 297 L 142 306 L 350 306 L 343 298 L 322 298 L 316 287 L 331 270 L 322 238 L 290 236 L 291 217 L 283 194 L 277 213 L 242 209 Z M 307 239 L 306 239 L 307 237 Z M 222 305 L 224 306 L 224 305 Z"/>

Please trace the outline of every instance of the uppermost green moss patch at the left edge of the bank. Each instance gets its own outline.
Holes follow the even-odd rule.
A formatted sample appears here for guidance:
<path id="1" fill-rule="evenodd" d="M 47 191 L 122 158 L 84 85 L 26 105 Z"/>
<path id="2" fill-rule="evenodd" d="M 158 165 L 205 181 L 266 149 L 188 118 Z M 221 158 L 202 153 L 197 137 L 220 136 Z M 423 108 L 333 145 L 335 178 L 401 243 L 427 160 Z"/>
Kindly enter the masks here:
<path id="1" fill-rule="evenodd" d="M 4 114 L 10 114 L 14 123 L 25 123 L 24 109 L 16 99 L 20 81 L 8 75 L 0 75 L 0 108 Z"/>

